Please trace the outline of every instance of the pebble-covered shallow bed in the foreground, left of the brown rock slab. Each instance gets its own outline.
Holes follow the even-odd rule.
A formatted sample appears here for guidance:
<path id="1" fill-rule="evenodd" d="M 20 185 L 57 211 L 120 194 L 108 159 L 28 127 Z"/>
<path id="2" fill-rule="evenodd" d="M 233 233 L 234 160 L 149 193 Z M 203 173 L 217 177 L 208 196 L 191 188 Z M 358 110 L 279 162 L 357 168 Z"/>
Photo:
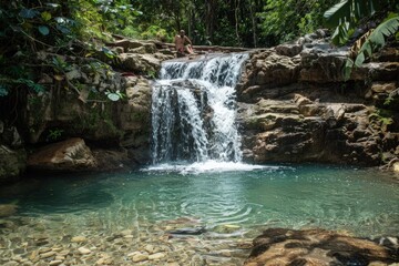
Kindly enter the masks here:
<path id="1" fill-rule="evenodd" d="M 252 247 L 252 239 L 234 226 L 195 234 L 186 226 L 193 229 L 196 222 L 180 218 L 111 228 L 95 215 L 84 216 L 88 219 L 62 214 L 0 218 L 0 264 L 227 266 L 243 265 Z"/>

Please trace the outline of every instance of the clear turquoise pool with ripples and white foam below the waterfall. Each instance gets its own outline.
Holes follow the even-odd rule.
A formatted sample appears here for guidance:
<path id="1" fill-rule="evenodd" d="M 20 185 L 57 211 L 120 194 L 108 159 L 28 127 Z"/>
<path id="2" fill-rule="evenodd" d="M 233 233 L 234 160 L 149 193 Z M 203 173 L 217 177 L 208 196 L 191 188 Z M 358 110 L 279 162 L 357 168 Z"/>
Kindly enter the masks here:
<path id="1" fill-rule="evenodd" d="M 68 223 L 103 228 L 145 221 L 195 219 L 207 231 L 238 225 L 399 234 L 399 190 L 374 170 L 326 165 L 249 166 L 234 163 L 158 165 L 132 173 L 32 177 L 2 187 L 0 203 L 19 214 L 62 214 Z"/>

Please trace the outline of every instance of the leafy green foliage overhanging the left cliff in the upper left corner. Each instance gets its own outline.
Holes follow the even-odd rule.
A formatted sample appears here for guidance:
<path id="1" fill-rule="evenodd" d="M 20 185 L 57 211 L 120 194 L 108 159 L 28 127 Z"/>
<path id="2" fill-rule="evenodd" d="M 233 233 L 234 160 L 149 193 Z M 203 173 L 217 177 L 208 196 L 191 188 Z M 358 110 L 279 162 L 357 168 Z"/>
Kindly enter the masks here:
<path id="1" fill-rule="evenodd" d="M 137 16 L 140 12 L 130 0 L 11 0 L 2 4 L 0 96 L 25 88 L 32 93 L 43 93 L 44 86 L 38 83 L 41 72 L 57 81 L 64 80 L 65 73 L 72 70 L 66 54 L 88 57 L 101 52 L 114 59 L 115 53 L 99 45 L 96 39 L 109 38 L 106 31 L 119 32 L 131 27 Z M 37 52 L 43 50 L 54 55 L 38 60 Z M 105 64 L 95 68 L 105 68 Z M 73 89 L 79 90 L 80 84 L 75 85 Z"/>

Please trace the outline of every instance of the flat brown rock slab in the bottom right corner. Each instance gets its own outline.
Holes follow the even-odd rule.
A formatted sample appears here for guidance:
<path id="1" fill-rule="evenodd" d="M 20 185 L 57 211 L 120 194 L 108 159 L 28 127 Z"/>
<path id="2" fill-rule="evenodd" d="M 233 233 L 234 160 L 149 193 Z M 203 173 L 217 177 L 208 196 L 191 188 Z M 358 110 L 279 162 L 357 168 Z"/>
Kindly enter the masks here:
<path id="1" fill-rule="evenodd" d="M 245 266 L 389 265 L 399 262 L 397 247 L 324 229 L 266 229 L 254 239 Z"/>

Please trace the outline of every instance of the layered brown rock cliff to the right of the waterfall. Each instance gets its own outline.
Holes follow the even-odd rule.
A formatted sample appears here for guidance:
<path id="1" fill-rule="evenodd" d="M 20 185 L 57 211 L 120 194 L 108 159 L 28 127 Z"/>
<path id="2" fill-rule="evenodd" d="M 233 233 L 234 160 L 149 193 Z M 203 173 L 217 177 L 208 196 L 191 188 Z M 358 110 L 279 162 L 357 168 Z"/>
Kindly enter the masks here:
<path id="1" fill-rule="evenodd" d="M 323 39 L 252 54 L 238 88 L 247 161 L 380 165 L 399 155 L 397 50 L 344 81 L 346 52 Z"/>

